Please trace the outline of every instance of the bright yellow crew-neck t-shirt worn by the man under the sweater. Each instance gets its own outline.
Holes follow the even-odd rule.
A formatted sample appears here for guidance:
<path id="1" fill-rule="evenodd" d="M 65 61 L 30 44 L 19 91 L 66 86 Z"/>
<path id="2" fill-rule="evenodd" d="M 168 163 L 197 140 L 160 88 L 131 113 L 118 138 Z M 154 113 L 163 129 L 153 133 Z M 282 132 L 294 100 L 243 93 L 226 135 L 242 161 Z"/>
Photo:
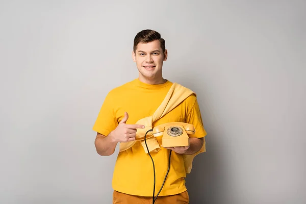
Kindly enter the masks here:
<path id="1" fill-rule="evenodd" d="M 172 82 L 145 84 L 139 79 L 125 83 L 111 90 L 101 106 L 93 130 L 107 136 L 129 114 L 126 124 L 135 124 L 139 119 L 151 116 L 161 105 Z M 201 114 L 195 95 L 186 98 L 179 106 L 155 121 L 153 127 L 167 122 L 187 122 L 195 126 L 195 134 L 190 137 L 205 137 Z M 157 137 L 161 145 L 161 137 Z M 156 189 L 158 193 L 168 170 L 169 149 L 161 147 L 158 152 L 150 152 L 155 163 Z M 171 153 L 170 170 L 159 196 L 181 193 L 186 189 L 184 160 L 182 155 Z M 119 152 L 113 173 L 113 189 L 122 193 L 152 196 L 154 172 L 150 157 L 137 141 L 131 148 Z"/>

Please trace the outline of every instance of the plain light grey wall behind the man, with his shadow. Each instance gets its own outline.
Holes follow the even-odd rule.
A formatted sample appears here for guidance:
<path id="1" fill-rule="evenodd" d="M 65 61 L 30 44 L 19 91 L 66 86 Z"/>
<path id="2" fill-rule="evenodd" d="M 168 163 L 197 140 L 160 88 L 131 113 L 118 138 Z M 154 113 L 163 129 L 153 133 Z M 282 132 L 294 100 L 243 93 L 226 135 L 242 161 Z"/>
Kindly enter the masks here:
<path id="1" fill-rule="evenodd" d="M 0 202 L 111 203 L 116 154 L 91 130 L 137 77 L 133 38 L 166 39 L 164 77 L 198 94 L 207 152 L 191 203 L 305 203 L 302 1 L 2 1 Z"/>

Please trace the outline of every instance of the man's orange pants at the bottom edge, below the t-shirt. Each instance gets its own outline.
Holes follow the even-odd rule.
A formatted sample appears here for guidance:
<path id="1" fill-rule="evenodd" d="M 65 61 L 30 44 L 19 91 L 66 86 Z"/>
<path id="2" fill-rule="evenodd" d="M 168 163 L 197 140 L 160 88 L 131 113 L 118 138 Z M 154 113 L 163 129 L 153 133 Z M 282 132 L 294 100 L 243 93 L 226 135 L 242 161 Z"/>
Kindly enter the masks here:
<path id="1" fill-rule="evenodd" d="M 152 197 L 129 195 L 114 191 L 113 204 L 151 204 Z M 188 204 L 189 195 L 187 191 L 176 195 L 158 196 L 155 204 Z"/>

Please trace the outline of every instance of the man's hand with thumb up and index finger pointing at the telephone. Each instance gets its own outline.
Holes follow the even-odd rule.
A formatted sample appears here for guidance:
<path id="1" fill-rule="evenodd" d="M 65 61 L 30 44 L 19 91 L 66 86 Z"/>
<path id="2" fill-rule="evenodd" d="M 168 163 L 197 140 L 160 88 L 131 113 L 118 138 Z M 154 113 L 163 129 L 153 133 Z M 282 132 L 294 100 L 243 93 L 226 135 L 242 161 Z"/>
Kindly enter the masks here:
<path id="1" fill-rule="evenodd" d="M 126 124 L 129 114 L 124 113 L 124 118 L 119 122 L 115 130 L 109 136 L 114 142 L 129 142 L 134 141 L 136 137 L 137 128 L 144 128 L 141 124 Z"/>

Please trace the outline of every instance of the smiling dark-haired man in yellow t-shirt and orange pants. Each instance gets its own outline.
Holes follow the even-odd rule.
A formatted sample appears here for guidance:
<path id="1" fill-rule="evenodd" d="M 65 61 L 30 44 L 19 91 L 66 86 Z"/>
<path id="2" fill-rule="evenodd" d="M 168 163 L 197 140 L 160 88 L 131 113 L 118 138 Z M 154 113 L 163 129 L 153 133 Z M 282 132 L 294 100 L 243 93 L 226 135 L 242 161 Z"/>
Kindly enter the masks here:
<path id="1" fill-rule="evenodd" d="M 108 93 L 93 126 L 97 132 L 95 147 L 101 156 L 112 155 L 118 142 L 134 142 L 118 154 L 112 182 L 113 203 L 152 203 L 154 169 L 143 143 L 136 141 L 138 132 L 145 128 L 145 124 L 136 122 L 154 114 L 173 85 L 162 75 L 167 55 L 165 40 L 158 32 L 139 32 L 135 36 L 132 52 L 139 76 Z M 184 155 L 199 152 L 205 145 L 206 136 L 196 95 L 190 94 L 182 103 L 154 121 L 152 126 L 168 122 L 190 123 L 196 131 L 194 135 L 189 135 L 189 146 L 160 146 L 159 150 L 150 152 L 155 163 L 156 196 L 163 185 L 169 152 L 172 150 L 170 170 L 155 203 L 189 203 Z M 161 137 L 156 139 L 161 144 Z"/>

